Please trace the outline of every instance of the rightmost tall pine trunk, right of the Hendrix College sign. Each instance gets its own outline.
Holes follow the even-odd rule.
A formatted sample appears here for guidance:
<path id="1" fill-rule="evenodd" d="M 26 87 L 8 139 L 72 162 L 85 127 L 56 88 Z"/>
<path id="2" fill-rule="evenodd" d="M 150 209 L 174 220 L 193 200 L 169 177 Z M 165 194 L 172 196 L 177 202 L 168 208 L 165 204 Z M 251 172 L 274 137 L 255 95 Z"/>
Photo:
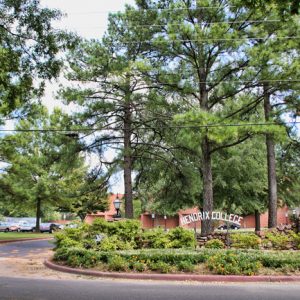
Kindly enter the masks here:
<path id="1" fill-rule="evenodd" d="M 270 102 L 270 93 L 268 85 L 264 84 L 264 110 L 265 120 L 268 122 L 271 118 L 272 107 Z M 268 162 L 268 200 L 269 200 L 269 216 L 268 228 L 277 226 L 277 180 L 276 180 L 276 158 L 275 143 L 273 135 L 266 134 L 267 146 L 267 162 Z"/>

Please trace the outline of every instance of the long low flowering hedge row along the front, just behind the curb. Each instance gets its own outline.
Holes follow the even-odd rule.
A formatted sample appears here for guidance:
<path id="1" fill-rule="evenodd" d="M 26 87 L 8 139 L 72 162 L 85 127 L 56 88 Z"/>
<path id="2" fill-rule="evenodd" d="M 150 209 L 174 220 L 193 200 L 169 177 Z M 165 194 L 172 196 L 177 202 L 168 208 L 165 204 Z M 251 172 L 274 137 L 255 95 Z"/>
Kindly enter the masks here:
<path id="1" fill-rule="evenodd" d="M 295 251 L 152 249 L 103 252 L 64 247 L 56 250 L 54 259 L 77 267 L 94 267 L 99 264 L 114 271 L 132 269 L 143 272 L 155 269 L 159 272 L 172 272 L 178 269 L 193 272 L 197 265 L 203 263 L 212 272 L 224 275 L 253 275 L 261 266 L 275 270 L 300 270 L 300 253 Z"/>

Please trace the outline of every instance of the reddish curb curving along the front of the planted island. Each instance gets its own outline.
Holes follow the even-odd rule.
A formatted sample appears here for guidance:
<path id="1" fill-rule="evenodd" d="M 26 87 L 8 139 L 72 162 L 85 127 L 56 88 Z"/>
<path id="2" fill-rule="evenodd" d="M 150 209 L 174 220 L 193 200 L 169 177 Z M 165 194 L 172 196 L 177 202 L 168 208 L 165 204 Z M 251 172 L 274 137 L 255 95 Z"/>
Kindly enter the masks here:
<path id="1" fill-rule="evenodd" d="M 49 269 L 105 278 L 139 279 L 139 280 L 166 280 L 166 281 L 199 281 L 199 282 L 300 282 L 300 276 L 238 276 L 238 275 L 193 275 L 193 274 L 142 274 L 100 272 L 89 269 L 74 269 L 45 260 L 44 265 Z"/>

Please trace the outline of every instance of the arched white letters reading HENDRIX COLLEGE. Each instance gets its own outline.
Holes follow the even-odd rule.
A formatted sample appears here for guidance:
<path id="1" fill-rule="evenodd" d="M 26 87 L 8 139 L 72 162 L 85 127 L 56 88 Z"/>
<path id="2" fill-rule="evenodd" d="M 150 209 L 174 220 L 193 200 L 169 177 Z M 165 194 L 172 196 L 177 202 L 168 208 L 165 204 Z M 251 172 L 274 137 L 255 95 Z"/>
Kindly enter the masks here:
<path id="1" fill-rule="evenodd" d="M 219 220 L 219 221 L 225 221 L 225 222 L 241 225 L 242 219 L 243 219 L 242 217 L 235 214 L 227 214 L 220 211 L 213 211 L 213 212 L 203 211 L 203 212 L 192 213 L 190 215 L 181 217 L 180 222 L 182 225 L 187 225 L 202 220 Z"/>

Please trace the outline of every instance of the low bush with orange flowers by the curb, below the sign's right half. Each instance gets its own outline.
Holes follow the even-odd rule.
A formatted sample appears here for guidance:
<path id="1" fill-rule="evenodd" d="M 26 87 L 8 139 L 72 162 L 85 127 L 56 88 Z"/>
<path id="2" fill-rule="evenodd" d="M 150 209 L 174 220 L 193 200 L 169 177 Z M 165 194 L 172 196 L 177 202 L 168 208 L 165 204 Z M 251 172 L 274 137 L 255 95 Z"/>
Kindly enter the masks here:
<path id="1" fill-rule="evenodd" d="M 226 251 L 211 256 L 207 266 L 215 274 L 254 275 L 259 271 L 261 263 L 246 254 Z"/>

